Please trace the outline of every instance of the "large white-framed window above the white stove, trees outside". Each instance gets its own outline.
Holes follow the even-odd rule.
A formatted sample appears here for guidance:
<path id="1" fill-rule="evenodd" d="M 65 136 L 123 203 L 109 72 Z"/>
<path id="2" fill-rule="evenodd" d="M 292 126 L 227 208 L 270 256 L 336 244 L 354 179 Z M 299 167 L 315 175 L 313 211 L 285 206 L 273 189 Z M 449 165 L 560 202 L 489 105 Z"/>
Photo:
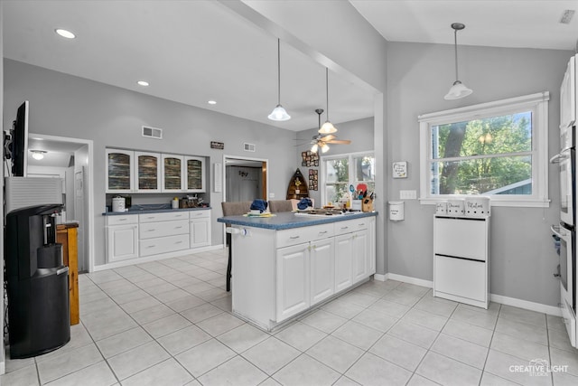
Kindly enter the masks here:
<path id="1" fill-rule="evenodd" d="M 548 92 L 419 117 L 421 201 L 547 206 Z"/>

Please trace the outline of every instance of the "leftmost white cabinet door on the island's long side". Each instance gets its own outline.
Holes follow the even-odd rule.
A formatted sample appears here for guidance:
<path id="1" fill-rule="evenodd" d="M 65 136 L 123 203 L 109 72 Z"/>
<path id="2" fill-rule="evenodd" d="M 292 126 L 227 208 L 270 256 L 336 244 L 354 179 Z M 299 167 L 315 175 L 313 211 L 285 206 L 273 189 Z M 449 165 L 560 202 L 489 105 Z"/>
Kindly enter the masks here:
<path id="1" fill-rule="evenodd" d="M 309 243 L 277 249 L 276 322 L 307 309 L 309 302 Z"/>

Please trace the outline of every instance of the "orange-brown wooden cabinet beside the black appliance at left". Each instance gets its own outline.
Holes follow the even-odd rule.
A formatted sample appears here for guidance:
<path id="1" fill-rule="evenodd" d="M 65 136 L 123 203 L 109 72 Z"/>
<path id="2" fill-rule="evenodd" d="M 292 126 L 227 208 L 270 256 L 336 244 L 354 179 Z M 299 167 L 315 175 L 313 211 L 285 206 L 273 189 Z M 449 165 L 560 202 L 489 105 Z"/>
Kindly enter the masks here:
<path id="1" fill-rule="evenodd" d="M 79 313 L 79 224 L 60 224 L 56 227 L 56 241 L 62 244 L 62 259 L 69 267 L 70 325 L 80 323 Z"/>

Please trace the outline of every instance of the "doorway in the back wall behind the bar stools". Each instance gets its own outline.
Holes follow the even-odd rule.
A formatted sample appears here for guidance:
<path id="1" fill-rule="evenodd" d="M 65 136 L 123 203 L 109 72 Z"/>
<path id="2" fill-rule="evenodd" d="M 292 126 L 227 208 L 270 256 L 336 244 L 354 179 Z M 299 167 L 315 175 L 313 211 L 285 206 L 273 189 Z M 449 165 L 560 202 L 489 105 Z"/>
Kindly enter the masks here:
<path id="1" fill-rule="evenodd" d="M 267 163 L 266 159 L 224 155 L 223 201 L 267 200 Z"/>

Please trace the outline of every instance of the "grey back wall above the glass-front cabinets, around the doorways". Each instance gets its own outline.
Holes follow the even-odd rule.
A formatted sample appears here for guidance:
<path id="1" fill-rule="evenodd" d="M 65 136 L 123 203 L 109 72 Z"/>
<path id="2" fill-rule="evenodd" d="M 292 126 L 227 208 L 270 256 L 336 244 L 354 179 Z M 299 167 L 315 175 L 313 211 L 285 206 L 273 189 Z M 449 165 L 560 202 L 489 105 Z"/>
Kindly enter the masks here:
<path id="1" fill-rule="evenodd" d="M 284 195 L 294 173 L 294 148 L 285 146 L 294 143 L 294 132 L 5 59 L 5 125 L 24 99 L 30 100 L 33 133 L 94 141 L 96 265 L 105 262 L 100 213 L 105 210 L 106 146 L 208 156 L 210 170 L 212 164 L 222 164 L 225 153 L 268 159 L 269 191 L 276 196 Z M 143 125 L 162 127 L 163 140 L 142 137 Z M 210 141 L 223 142 L 225 149 L 210 149 Z M 244 142 L 256 144 L 256 152 L 244 152 Z M 222 243 L 222 225 L 215 221 L 221 215 L 222 193 L 209 196 L 216 245 Z"/>

